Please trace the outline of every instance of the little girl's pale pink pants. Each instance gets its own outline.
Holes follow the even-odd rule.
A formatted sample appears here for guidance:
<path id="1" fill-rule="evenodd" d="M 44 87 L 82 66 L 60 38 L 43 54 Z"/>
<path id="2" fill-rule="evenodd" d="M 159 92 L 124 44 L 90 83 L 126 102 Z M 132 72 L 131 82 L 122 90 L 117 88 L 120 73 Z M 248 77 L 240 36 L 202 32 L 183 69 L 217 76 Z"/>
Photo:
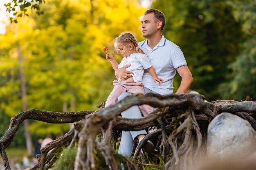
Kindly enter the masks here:
<path id="1" fill-rule="evenodd" d="M 133 94 L 137 94 L 137 93 L 144 94 L 143 84 L 140 82 L 126 83 L 126 82 L 114 80 L 113 85 L 114 85 L 114 89 L 108 96 L 105 107 L 115 104 L 117 102 L 119 95 L 121 95 L 121 93 L 129 92 Z M 144 116 L 153 112 L 152 106 L 149 106 L 146 104 L 139 106 L 139 108 Z"/>

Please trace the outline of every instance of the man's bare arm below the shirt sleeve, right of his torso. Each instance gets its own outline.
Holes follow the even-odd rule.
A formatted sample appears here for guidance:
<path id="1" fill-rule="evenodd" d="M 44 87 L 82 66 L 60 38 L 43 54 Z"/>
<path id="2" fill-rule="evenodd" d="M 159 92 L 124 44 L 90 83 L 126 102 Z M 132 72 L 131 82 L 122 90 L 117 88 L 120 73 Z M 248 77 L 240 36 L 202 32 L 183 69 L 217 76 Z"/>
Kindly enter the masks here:
<path id="1" fill-rule="evenodd" d="M 188 66 L 181 66 L 181 67 L 177 68 L 177 72 L 182 77 L 182 81 L 181 81 L 180 87 L 178 88 L 176 93 L 186 93 L 186 91 L 189 90 L 189 88 L 193 82 L 192 74 L 191 74 Z"/>

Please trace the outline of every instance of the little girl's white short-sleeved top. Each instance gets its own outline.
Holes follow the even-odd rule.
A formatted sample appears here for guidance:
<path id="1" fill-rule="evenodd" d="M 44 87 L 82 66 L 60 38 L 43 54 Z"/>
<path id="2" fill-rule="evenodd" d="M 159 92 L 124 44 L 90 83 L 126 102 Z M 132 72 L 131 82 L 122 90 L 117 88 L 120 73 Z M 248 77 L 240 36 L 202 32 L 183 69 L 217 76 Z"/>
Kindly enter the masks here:
<path id="1" fill-rule="evenodd" d="M 118 65 L 118 68 L 131 64 L 130 67 L 126 68 L 127 71 L 131 71 L 134 82 L 142 82 L 142 76 L 144 70 L 150 68 L 152 65 L 149 62 L 148 56 L 142 53 L 132 53 L 128 57 L 124 57 Z M 153 77 L 152 77 L 153 79 Z M 122 81 L 118 79 L 118 81 Z"/>

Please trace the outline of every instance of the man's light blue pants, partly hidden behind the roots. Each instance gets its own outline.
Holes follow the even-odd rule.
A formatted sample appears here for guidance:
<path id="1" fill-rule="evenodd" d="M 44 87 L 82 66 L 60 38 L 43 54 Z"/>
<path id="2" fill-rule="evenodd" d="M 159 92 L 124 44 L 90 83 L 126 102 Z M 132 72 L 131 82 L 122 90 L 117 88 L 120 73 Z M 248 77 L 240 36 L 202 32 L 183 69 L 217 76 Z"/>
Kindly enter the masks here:
<path id="1" fill-rule="evenodd" d="M 144 88 L 144 93 L 155 93 L 148 88 Z M 118 97 L 118 101 L 124 99 L 126 96 L 131 95 L 131 93 L 122 93 Z M 155 110 L 155 108 L 154 108 Z M 129 109 L 123 111 L 121 113 L 122 117 L 126 118 L 141 118 L 143 115 L 139 110 L 138 106 L 132 106 Z M 139 131 L 122 131 L 121 141 L 119 145 L 118 153 L 124 155 L 126 157 L 130 157 L 132 155 L 132 149 L 134 147 L 134 139 L 138 135 L 147 134 L 146 130 L 139 130 Z"/>

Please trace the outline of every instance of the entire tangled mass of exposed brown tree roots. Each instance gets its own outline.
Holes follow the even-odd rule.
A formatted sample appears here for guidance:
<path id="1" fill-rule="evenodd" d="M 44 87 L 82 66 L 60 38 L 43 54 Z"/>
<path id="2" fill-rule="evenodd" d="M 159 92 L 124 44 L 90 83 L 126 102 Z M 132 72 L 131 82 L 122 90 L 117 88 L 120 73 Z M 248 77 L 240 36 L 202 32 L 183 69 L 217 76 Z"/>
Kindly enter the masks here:
<path id="1" fill-rule="evenodd" d="M 236 114 L 249 121 L 256 130 L 256 120 L 249 113 L 256 113 L 256 102 L 237 102 L 233 100 L 214 101 L 204 103 L 204 97 L 197 94 L 184 95 L 131 95 L 121 102 L 102 109 L 104 102 L 96 112 L 85 110 L 80 112 L 48 112 L 43 110 L 28 110 L 11 118 L 10 126 L 4 136 L 0 138 L 0 153 L 4 160 L 6 170 L 11 170 L 5 148 L 11 144 L 19 125 L 25 119 L 33 119 L 48 123 L 74 123 L 74 129 L 42 148 L 39 163 L 29 170 L 46 170 L 51 168 L 56 161 L 56 153 L 63 147 L 71 147 L 78 136 L 78 150 L 75 159 L 75 170 L 95 169 L 95 149 L 103 155 L 106 164 L 111 170 L 117 170 L 118 165 L 111 148 L 112 130 L 143 130 L 151 126 L 157 126 L 157 130 L 146 135 L 138 144 L 134 159 L 137 157 L 143 144 L 154 137 L 158 137 L 157 149 L 162 150 L 162 160 L 165 170 L 188 169 L 195 160 L 202 156 L 201 132 L 206 133 L 205 128 L 200 130 L 197 121 L 209 122 L 222 112 Z M 131 106 L 149 104 L 158 107 L 147 117 L 140 119 L 127 119 L 119 114 Z M 85 119 L 84 119 L 85 118 Z M 180 123 L 180 124 L 179 124 Z M 103 132 L 102 132 L 103 129 Z M 207 130 L 207 129 L 206 129 Z M 97 139 L 97 134 L 102 132 L 102 139 Z M 75 136 L 75 137 L 74 137 Z M 74 138 L 73 138 L 74 137 Z M 73 138 L 73 139 L 72 139 Z M 53 150 L 52 150 L 53 149 Z M 50 151 L 52 150 L 52 151 Z M 171 158 L 170 158 L 171 156 Z M 128 170 L 138 170 L 136 160 L 123 157 L 123 165 Z M 137 162 L 138 165 L 142 165 Z M 157 165 L 156 165 L 157 166 Z"/>

